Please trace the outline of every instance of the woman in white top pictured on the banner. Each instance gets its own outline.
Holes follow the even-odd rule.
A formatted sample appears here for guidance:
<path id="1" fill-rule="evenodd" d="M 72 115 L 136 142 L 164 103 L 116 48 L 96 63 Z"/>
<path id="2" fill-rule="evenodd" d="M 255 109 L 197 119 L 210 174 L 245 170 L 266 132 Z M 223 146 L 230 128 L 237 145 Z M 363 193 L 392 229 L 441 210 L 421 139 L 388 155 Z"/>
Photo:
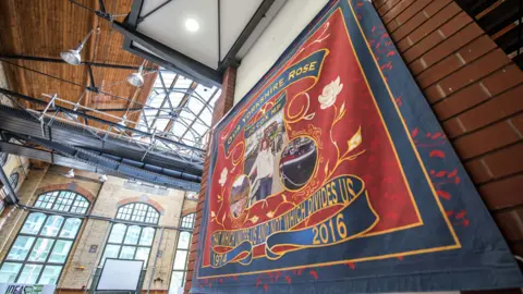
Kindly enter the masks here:
<path id="1" fill-rule="evenodd" d="M 275 171 L 275 163 L 272 154 L 270 152 L 269 138 L 264 137 L 259 145 L 258 156 L 254 161 L 253 168 L 248 172 L 248 177 L 252 179 L 254 172 L 256 172 L 256 181 L 259 181 L 258 197 L 256 200 L 263 200 L 267 198 L 272 192 L 272 173 Z"/>

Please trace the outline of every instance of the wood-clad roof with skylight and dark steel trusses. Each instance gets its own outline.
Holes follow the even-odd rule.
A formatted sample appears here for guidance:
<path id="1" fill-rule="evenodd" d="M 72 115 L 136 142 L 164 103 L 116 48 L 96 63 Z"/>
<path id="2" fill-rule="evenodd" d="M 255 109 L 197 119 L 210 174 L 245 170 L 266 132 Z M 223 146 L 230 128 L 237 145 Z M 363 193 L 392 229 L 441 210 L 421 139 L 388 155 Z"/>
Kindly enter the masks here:
<path id="1" fill-rule="evenodd" d="M 0 151 L 74 169 L 199 191 L 212 106 L 220 95 L 122 50 L 112 22 L 130 0 L 2 1 Z M 123 12 L 123 13 L 121 13 Z M 117 14 L 120 13 L 120 14 Z M 60 52 L 89 28 L 78 65 Z M 144 66 L 144 83 L 126 77 Z M 4 99 L 5 100 L 5 99 Z"/>

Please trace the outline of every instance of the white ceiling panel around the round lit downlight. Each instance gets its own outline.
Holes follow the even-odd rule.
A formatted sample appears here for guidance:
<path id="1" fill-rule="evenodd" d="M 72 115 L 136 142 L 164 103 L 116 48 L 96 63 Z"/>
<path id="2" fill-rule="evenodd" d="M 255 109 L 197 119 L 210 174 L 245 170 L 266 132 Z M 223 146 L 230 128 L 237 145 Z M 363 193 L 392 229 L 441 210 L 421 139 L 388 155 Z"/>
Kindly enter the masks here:
<path id="1" fill-rule="evenodd" d="M 162 1 L 158 0 L 144 1 L 141 16 L 161 3 Z M 188 19 L 199 24 L 197 32 L 188 32 L 185 28 L 185 22 Z M 209 68 L 218 66 L 218 1 L 216 0 L 171 1 L 145 17 L 136 29 Z"/>

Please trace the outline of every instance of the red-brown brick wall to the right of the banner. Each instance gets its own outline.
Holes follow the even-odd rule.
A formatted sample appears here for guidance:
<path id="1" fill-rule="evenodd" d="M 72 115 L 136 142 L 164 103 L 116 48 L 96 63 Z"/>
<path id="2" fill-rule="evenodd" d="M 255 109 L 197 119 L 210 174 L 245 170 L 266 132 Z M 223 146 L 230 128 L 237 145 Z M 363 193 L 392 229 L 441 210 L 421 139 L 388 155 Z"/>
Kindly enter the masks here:
<path id="1" fill-rule="evenodd" d="M 452 0 L 373 2 L 509 246 L 523 256 L 523 72 Z"/>

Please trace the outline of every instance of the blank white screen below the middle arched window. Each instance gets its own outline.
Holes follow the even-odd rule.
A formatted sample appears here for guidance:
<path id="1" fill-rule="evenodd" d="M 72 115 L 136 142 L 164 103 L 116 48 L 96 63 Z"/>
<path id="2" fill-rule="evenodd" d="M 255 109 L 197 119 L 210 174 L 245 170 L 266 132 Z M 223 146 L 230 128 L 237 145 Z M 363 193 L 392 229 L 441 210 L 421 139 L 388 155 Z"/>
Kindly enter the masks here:
<path id="1" fill-rule="evenodd" d="M 96 290 L 136 291 L 143 260 L 106 259 Z"/>

